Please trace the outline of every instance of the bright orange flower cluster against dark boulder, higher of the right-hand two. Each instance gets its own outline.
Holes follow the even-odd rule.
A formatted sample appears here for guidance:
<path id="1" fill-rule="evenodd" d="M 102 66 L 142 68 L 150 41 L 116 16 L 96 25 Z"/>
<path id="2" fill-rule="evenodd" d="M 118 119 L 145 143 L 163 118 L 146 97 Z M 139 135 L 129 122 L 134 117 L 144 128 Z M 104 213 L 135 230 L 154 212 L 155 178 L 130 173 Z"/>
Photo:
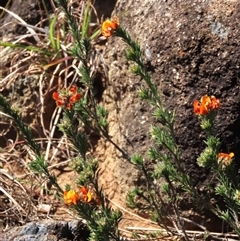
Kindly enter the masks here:
<path id="1" fill-rule="evenodd" d="M 215 96 L 202 96 L 201 100 L 194 100 L 193 111 L 196 115 L 206 115 L 211 110 L 217 110 L 220 107 L 220 101 Z"/>

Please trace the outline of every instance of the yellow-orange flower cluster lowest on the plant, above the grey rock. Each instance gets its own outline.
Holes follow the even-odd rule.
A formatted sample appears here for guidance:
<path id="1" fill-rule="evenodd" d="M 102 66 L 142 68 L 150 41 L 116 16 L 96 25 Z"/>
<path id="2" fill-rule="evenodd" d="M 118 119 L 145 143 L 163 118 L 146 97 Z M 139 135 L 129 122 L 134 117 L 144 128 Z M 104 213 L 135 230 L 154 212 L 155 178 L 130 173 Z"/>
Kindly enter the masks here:
<path id="1" fill-rule="evenodd" d="M 77 205 L 79 201 L 89 204 L 100 204 L 99 198 L 83 186 L 80 187 L 79 193 L 76 193 L 73 189 L 65 191 L 63 198 L 66 205 Z"/>

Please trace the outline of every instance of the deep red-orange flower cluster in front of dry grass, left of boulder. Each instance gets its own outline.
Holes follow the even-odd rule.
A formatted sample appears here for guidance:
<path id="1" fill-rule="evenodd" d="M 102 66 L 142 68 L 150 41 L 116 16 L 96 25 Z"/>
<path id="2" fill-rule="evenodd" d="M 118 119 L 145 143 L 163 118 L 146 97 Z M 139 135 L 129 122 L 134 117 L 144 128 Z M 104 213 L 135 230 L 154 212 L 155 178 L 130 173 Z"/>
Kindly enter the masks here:
<path id="1" fill-rule="evenodd" d="M 65 106 L 68 110 L 71 110 L 73 105 L 81 99 L 82 95 L 77 92 L 77 87 L 73 86 L 69 90 L 64 88 L 59 92 L 53 92 L 52 97 L 56 101 L 57 106 Z"/>

